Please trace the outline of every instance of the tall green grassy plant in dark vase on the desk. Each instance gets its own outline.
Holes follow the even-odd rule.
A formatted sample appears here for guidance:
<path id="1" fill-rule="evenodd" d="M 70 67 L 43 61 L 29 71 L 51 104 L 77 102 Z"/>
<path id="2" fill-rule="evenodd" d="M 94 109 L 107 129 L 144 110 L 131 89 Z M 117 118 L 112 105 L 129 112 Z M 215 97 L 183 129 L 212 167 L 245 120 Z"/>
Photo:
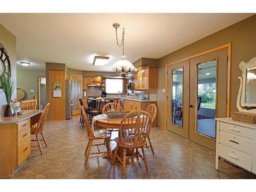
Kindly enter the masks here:
<path id="1" fill-rule="evenodd" d="M 13 112 L 12 106 L 10 105 L 10 102 L 11 102 L 11 97 L 12 97 L 12 93 L 13 93 L 13 89 L 14 89 L 14 85 L 15 85 L 15 82 L 11 76 L 11 72 L 3 73 L 2 75 L 0 75 L 0 83 L 1 83 L 2 89 L 5 93 L 5 99 L 7 102 L 7 105 L 5 107 L 4 116 L 11 117 L 14 115 L 14 112 Z"/>

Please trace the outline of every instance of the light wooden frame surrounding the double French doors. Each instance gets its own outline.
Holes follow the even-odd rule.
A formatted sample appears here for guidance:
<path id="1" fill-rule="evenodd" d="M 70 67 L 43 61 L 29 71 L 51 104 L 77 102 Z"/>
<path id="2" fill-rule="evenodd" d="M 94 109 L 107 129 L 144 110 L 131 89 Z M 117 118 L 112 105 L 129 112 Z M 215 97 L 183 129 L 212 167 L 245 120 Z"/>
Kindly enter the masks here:
<path id="1" fill-rule="evenodd" d="M 165 131 L 167 131 L 167 91 L 168 91 L 168 81 L 167 81 L 167 67 L 168 66 L 171 66 L 171 65 L 175 65 L 176 63 L 178 62 L 182 62 L 182 61 L 185 61 L 185 60 L 188 60 L 188 63 L 189 63 L 189 66 L 188 66 L 188 70 L 190 70 L 190 59 L 192 58 L 195 58 L 195 57 L 199 57 L 199 56 L 202 56 L 202 55 L 206 55 L 208 53 L 211 53 L 211 52 L 215 52 L 215 51 L 218 51 L 218 50 L 221 50 L 221 49 L 225 49 L 227 48 L 227 95 L 226 95 L 226 98 L 227 98 L 227 102 L 226 102 L 226 117 L 229 117 L 230 116 L 230 71 L 231 71 L 231 42 L 229 42 L 228 44 L 225 44 L 225 45 L 222 45 L 222 46 L 219 46 L 219 47 L 216 47 L 216 48 L 213 48 L 213 49 L 209 49 L 207 51 L 203 51 L 201 53 L 198 53 L 198 54 L 195 54 L 195 55 L 191 55 L 191 56 L 188 56 L 188 57 L 185 57 L 183 59 L 180 59 L 180 60 L 177 60 L 177 61 L 174 61 L 174 62 L 170 62 L 170 63 L 167 63 L 165 65 Z M 190 79 L 190 73 L 188 73 L 188 79 Z M 189 88 L 188 88 L 188 98 L 189 98 L 189 89 L 190 89 L 190 84 L 189 84 Z M 188 115 L 188 118 L 189 118 L 189 115 Z M 188 124 L 189 126 L 189 124 Z M 189 127 L 188 127 L 188 130 L 189 130 Z"/>

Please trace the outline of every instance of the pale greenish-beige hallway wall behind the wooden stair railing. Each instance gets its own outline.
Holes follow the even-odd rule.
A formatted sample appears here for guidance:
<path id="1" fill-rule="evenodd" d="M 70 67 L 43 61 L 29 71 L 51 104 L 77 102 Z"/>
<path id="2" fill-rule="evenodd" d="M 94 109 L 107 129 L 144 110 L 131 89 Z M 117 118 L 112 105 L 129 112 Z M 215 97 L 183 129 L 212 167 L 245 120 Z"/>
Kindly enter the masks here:
<path id="1" fill-rule="evenodd" d="M 37 76 L 46 76 L 46 71 L 17 68 L 17 88 L 25 91 L 24 100 L 33 99 L 33 96 L 37 97 Z M 46 98 L 46 95 L 41 95 L 42 99 L 43 97 Z"/>

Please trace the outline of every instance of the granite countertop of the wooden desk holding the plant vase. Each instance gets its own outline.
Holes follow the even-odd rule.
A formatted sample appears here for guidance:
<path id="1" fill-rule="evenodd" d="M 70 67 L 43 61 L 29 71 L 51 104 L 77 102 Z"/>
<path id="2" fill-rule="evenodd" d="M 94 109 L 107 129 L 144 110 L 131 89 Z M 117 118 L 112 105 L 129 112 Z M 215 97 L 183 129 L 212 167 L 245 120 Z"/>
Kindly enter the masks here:
<path id="1" fill-rule="evenodd" d="M 12 117 L 4 117 L 0 116 L 0 124 L 4 123 L 20 123 L 26 119 L 29 119 L 39 113 L 41 113 L 43 110 L 29 110 L 26 112 L 23 112 L 22 115 L 14 115 Z"/>

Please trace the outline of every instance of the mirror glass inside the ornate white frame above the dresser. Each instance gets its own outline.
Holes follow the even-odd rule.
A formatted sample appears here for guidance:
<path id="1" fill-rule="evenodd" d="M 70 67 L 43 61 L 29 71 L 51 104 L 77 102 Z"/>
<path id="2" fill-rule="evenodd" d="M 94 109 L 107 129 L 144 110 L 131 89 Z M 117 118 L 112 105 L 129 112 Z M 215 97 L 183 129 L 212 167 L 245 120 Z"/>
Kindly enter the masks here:
<path id="1" fill-rule="evenodd" d="M 246 69 L 245 102 L 256 103 L 256 67 Z"/>

